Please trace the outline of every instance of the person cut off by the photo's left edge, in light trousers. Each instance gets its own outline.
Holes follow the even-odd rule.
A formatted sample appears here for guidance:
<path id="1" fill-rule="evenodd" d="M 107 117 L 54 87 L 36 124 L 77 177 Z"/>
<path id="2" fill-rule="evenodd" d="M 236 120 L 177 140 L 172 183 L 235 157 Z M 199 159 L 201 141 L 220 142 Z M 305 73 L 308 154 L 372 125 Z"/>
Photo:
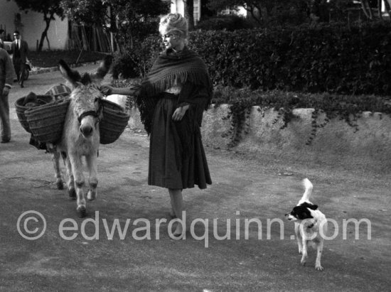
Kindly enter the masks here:
<path id="1" fill-rule="evenodd" d="M 8 95 L 12 81 L 15 77 L 11 57 L 6 50 L 0 48 L 0 118 L 1 118 L 1 143 L 11 140 L 11 125 L 9 122 Z"/>

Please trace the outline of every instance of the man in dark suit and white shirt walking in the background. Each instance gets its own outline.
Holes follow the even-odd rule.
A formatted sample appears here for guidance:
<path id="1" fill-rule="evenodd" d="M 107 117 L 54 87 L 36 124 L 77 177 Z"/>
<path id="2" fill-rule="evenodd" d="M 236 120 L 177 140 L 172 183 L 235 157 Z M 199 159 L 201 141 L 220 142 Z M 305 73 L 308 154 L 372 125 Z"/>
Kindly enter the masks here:
<path id="1" fill-rule="evenodd" d="M 23 88 L 23 82 L 25 79 L 26 61 L 28 58 L 28 45 L 25 40 L 21 39 L 21 34 L 18 31 L 14 32 L 15 40 L 12 42 L 12 61 L 14 63 L 14 69 L 16 72 L 16 78 Z"/>

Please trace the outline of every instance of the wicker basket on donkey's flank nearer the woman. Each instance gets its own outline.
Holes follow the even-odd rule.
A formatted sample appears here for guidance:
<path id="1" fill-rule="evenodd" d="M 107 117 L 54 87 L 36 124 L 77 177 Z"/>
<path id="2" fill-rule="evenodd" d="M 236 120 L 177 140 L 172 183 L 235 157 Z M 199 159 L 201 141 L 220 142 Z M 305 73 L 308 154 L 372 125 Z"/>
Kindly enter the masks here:
<path id="1" fill-rule="evenodd" d="M 116 141 L 126 128 L 130 114 L 114 102 L 102 99 L 103 117 L 99 123 L 100 144 Z"/>

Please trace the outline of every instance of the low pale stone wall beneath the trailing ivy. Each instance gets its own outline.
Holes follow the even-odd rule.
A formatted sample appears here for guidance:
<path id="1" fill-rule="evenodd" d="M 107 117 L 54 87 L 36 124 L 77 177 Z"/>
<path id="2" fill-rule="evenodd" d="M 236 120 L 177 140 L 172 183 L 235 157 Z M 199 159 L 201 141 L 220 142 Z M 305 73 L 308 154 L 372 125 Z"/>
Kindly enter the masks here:
<path id="1" fill-rule="evenodd" d="M 235 150 L 277 155 L 280 158 L 297 158 L 300 161 L 318 163 L 340 163 L 349 165 L 368 163 L 375 168 L 390 168 L 391 119 L 385 114 L 364 112 L 358 119 L 358 131 L 342 119 L 331 119 L 326 126 L 318 128 L 310 145 L 306 145 L 312 131 L 311 113 L 314 109 L 294 109 L 298 117 L 289 121 L 286 128 L 280 129 L 283 122 L 272 109 L 252 107 L 250 127 L 242 134 Z M 228 105 L 211 107 L 204 113 L 201 132 L 205 146 L 227 148 L 230 137 L 225 135 L 230 129 L 230 120 L 223 119 L 229 112 Z M 322 124 L 324 114 L 317 123 Z M 132 109 L 129 120 L 131 129 L 144 129 L 139 112 Z"/>

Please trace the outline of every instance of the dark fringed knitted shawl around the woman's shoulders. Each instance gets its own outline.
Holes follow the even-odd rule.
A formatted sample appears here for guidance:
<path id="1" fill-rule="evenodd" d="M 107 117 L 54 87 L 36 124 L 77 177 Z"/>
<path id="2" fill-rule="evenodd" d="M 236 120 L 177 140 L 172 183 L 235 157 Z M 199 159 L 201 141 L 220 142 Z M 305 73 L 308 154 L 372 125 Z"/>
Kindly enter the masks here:
<path id="1" fill-rule="evenodd" d="M 176 83 L 184 84 L 185 82 L 206 88 L 205 98 L 208 102 L 205 109 L 208 109 L 213 94 L 213 85 L 208 75 L 208 69 L 199 55 L 187 47 L 177 53 L 169 49 L 161 53 L 151 67 L 148 76 L 141 83 L 139 94 L 136 97 L 141 121 L 148 133 L 151 132 L 154 108 L 161 92 Z M 185 102 L 185 100 L 178 99 L 178 104 L 181 102 Z"/>

